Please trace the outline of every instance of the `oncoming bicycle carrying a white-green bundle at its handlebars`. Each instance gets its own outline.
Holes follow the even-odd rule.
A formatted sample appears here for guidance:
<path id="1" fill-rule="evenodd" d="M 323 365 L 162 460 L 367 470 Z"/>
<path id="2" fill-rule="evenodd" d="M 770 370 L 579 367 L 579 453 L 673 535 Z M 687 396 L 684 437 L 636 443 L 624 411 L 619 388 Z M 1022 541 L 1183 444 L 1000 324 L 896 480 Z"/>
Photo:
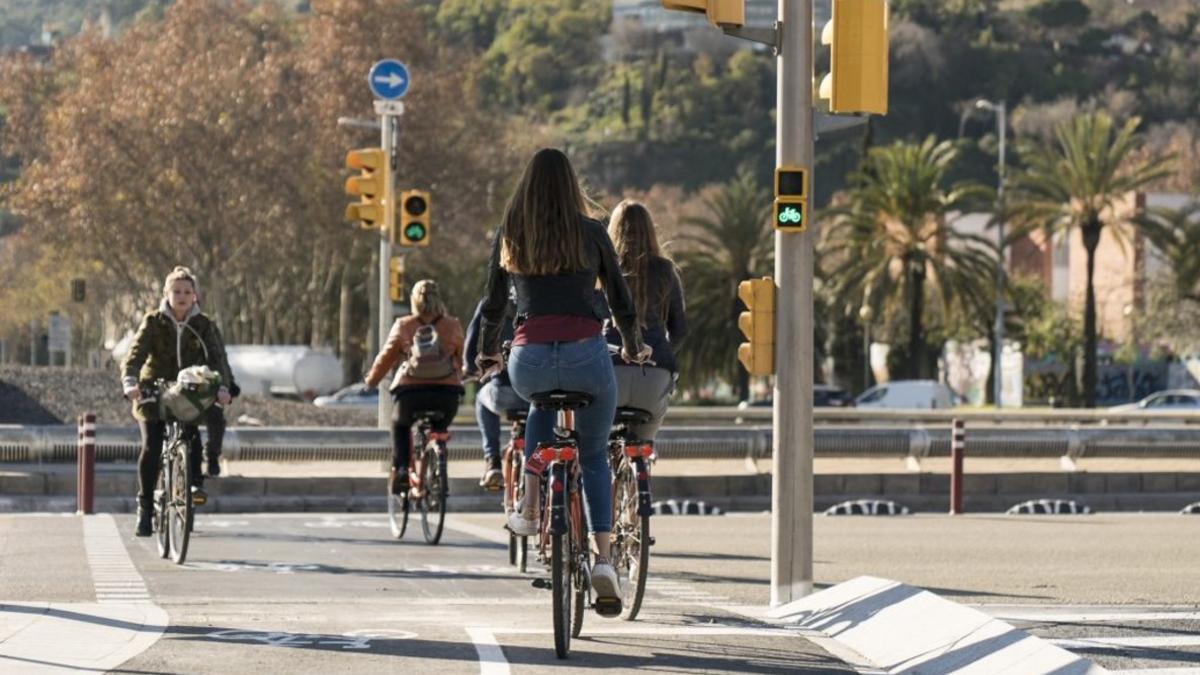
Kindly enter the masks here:
<path id="1" fill-rule="evenodd" d="M 155 387 L 142 392 L 142 402 L 160 402 L 161 392 L 167 386 L 158 381 Z M 192 455 L 199 452 L 199 429 L 172 416 L 160 405 L 160 416 L 167 428 L 162 440 L 162 461 L 154 491 L 151 526 L 158 556 L 169 557 L 175 565 L 187 560 L 187 544 L 196 519 L 196 507 L 208 500 L 203 492 L 193 492 L 194 470 Z M 198 464 L 198 462 L 196 462 Z"/>

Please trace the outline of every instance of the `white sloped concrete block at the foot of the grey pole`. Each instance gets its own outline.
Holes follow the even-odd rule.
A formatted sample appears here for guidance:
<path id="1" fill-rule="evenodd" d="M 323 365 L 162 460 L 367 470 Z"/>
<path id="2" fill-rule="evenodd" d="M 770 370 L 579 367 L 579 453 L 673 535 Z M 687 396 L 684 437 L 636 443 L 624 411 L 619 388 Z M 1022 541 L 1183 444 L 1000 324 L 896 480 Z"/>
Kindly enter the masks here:
<path id="1" fill-rule="evenodd" d="M 883 673 L 1105 673 L 1091 661 L 979 610 L 877 577 L 857 577 L 773 609 Z"/>

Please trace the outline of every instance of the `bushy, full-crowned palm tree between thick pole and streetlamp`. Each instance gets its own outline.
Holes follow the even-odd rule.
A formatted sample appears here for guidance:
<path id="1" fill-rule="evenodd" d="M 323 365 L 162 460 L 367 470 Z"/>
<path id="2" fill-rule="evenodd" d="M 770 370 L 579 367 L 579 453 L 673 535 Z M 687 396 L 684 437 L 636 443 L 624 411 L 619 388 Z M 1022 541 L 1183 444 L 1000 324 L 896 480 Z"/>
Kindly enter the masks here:
<path id="1" fill-rule="evenodd" d="M 835 298 L 857 312 L 893 319 L 907 312 L 910 377 L 929 377 L 925 305 L 942 316 L 956 306 L 984 306 L 994 283 L 995 245 L 955 232 L 952 211 L 985 203 L 991 191 L 977 183 L 946 183 L 958 157 L 949 142 L 872 148 L 856 173 L 847 199 L 827 211 L 832 226 L 822 258 L 834 261 L 828 279 Z"/>

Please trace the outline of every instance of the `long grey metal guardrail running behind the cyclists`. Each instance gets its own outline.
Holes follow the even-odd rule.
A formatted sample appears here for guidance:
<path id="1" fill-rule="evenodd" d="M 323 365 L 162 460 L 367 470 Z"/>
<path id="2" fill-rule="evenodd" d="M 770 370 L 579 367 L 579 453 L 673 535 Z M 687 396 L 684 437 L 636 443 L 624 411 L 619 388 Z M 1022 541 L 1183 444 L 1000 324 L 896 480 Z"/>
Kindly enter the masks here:
<path id="1" fill-rule="evenodd" d="M 988 428 L 970 423 L 971 458 L 1200 458 L 1198 426 Z M 452 459 L 478 458 L 479 430 L 455 425 Z M 73 426 L 0 425 L 0 462 L 73 462 Z M 98 426 L 96 461 L 133 461 L 134 426 Z M 767 459 L 772 429 L 766 425 L 665 426 L 655 446 L 664 459 Z M 950 425 L 889 428 L 821 424 L 815 430 L 817 456 L 949 456 Z M 224 456 L 246 461 L 383 461 L 390 455 L 386 430 L 368 428 L 247 428 L 226 432 Z"/>

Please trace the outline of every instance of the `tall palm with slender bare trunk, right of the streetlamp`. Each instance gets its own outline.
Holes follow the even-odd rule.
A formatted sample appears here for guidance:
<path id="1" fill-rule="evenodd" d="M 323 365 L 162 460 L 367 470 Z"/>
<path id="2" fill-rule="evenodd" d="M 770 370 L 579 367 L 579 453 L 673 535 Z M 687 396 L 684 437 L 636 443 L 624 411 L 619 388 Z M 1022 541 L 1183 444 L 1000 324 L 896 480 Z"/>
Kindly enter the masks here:
<path id="1" fill-rule="evenodd" d="M 1058 125 L 1052 143 L 1025 141 L 1019 153 L 1026 168 L 1013 181 L 1015 235 L 1034 228 L 1048 234 L 1079 229 L 1087 252 L 1084 303 L 1084 405 L 1096 406 L 1096 249 L 1108 225 L 1118 225 L 1114 205 L 1168 175 L 1164 157 L 1138 160 L 1139 118 L 1117 127 L 1108 113 L 1076 115 Z M 1121 241 L 1122 229 L 1110 228 Z"/>

